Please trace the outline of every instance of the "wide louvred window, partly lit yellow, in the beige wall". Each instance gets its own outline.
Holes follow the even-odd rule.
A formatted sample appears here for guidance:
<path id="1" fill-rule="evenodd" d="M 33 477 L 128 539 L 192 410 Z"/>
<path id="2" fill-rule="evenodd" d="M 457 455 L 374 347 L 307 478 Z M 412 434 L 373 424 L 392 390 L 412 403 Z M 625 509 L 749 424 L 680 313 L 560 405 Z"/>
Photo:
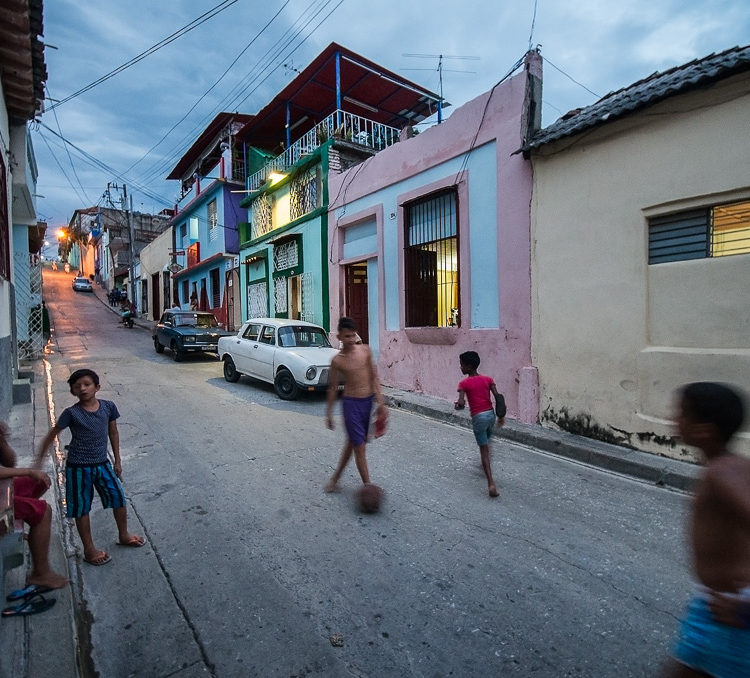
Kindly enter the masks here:
<path id="1" fill-rule="evenodd" d="M 750 202 L 735 202 L 648 220 L 648 263 L 750 253 Z"/>

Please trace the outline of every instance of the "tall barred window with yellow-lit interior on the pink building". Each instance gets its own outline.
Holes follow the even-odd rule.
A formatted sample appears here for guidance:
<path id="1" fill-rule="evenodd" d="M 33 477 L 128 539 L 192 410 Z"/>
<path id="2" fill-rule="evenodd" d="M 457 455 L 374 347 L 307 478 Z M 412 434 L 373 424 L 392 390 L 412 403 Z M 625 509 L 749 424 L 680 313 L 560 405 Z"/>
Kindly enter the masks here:
<path id="1" fill-rule="evenodd" d="M 407 327 L 460 324 L 457 204 L 450 189 L 405 205 Z"/>

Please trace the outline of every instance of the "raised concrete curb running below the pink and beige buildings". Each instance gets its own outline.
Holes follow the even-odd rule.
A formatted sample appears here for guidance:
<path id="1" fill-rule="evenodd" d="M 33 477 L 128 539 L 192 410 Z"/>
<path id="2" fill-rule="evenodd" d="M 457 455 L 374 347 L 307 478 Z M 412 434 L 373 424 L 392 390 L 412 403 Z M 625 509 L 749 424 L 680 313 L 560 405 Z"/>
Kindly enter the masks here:
<path id="1" fill-rule="evenodd" d="M 456 414 L 447 401 L 388 387 L 383 387 L 383 397 L 393 409 L 471 428 L 471 419 Z M 681 492 L 692 492 L 700 474 L 700 466 L 696 464 L 545 428 L 539 424 L 508 420 L 503 428 L 496 430 L 494 437 Z"/>

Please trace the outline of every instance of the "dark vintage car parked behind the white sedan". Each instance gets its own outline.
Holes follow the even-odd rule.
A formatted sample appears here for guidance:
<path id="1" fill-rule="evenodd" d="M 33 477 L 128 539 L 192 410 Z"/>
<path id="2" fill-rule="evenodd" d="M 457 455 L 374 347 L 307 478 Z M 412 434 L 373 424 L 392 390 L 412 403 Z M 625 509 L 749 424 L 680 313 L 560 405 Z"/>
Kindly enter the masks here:
<path id="1" fill-rule="evenodd" d="M 179 362 L 186 353 L 216 353 L 221 337 L 234 336 L 219 327 L 213 313 L 208 311 L 165 311 L 154 327 L 154 349 L 165 348 Z"/>

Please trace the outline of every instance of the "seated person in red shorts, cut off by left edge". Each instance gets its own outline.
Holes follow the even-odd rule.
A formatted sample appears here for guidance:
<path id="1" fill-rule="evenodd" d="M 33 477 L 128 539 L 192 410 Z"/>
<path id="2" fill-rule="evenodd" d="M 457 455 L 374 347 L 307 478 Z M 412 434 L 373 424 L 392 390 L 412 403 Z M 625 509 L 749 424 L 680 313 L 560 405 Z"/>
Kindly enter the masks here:
<path id="1" fill-rule="evenodd" d="M 17 456 L 8 442 L 8 433 L 7 425 L 0 422 L 0 479 L 12 479 L 13 515 L 29 526 L 31 572 L 26 577 L 26 586 L 29 590 L 34 587 L 40 593 L 62 588 L 70 580 L 55 572 L 50 565 L 52 509 L 41 498 L 52 483 L 44 471 L 16 466 Z"/>

